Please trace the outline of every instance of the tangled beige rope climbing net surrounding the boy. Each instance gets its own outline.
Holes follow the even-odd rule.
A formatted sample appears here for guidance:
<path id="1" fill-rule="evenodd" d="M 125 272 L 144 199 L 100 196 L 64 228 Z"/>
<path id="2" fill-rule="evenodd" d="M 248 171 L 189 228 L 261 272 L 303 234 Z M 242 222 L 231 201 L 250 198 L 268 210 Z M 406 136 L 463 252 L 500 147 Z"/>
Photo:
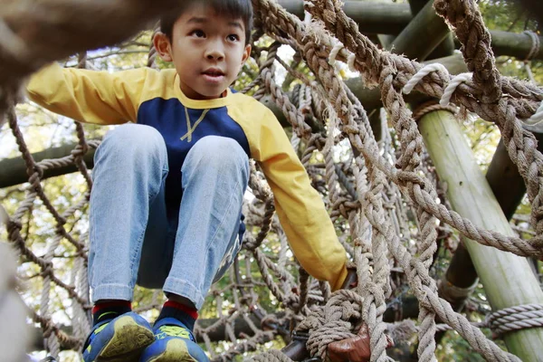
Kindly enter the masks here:
<path id="1" fill-rule="evenodd" d="M 92 181 L 83 157 L 100 141 L 87 140 L 83 126 L 75 123 L 79 141 L 71 155 L 36 162 L 19 128 L 14 103 L 20 99 L 24 77 L 46 62 L 119 43 L 148 26 L 161 9 L 175 6 L 175 1 L 117 0 L 100 3 L 100 8 L 92 2 L 12 3 L 0 9 L 0 113 L 14 133 L 29 182 L 24 186 L 24 201 L 9 215 L 7 231 L 21 260 L 32 264 L 35 271 L 34 295 L 41 297 L 39 305 L 29 309 L 30 315 L 43 329 L 45 348 L 58 357 L 62 349 L 81 348 L 90 330 L 84 225 Z M 519 360 L 487 338 L 481 325 L 452 310 L 438 296 L 431 268 L 438 243 L 452 233 L 501 251 L 543 257 L 543 157 L 533 134 L 522 125 L 542 119 L 543 90 L 500 75 L 489 33 L 474 1 L 434 1 L 436 12 L 462 43 L 470 75 L 460 77 L 443 67 L 423 66 L 378 49 L 359 33 L 338 1 L 306 2 L 306 21 L 271 0 L 253 0 L 252 4 L 255 38 L 265 34 L 271 41 L 255 46 L 258 74 L 243 91 L 258 100 L 271 100 L 290 123 L 292 145 L 313 185 L 324 196 L 339 240 L 356 269 L 357 286 L 331 293 L 327 283 L 312 280 L 300 268 L 274 216 L 271 191 L 258 166 L 253 165 L 250 188 L 254 198 L 243 206 L 250 233 L 246 233 L 243 252 L 230 274 L 214 285 L 208 296 L 205 314 L 214 314 L 214 318 L 199 321 L 195 328 L 211 357 L 230 360 L 256 350 L 262 352 L 254 355 L 257 360 L 289 360 L 273 347 L 278 337 L 290 340 L 291 330 L 296 329 L 299 336 L 307 338 L 310 355 L 325 359 L 329 343 L 354 337 L 363 322 L 370 336 L 372 360 L 387 360 L 386 333 L 396 340 L 418 334 L 418 357 L 435 360 L 434 336 L 445 329 L 456 330 L 489 360 Z M 98 23 L 101 27 L 97 31 Z M 22 32 L 25 26 L 31 31 Z M 293 62 L 281 60 L 281 45 L 295 51 Z M 151 49 L 149 66 L 156 66 L 155 56 Z M 83 53 L 79 61 L 78 66 L 86 65 Z M 338 74 L 336 62 L 345 62 L 351 71 L 357 71 L 367 87 L 380 87 L 384 107 L 379 115 L 384 129 L 380 140 L 374 136 L 366 110 Z M 309 74 L 300 71 L 302 63 Z M 290 96 L 276 80 L 275 70 L 280 66 L 287 71 L 287 78 L 297 80 Z M 442 109 L 451 108 L 449 103 L 453 102 L 463 111 L 496 124 L 526 183 L 532 205 L 529 222 L 535 236 L 524 240 L 484 230 L 447 207 L 414 115 L 405 104 L 403 92 L 411 89 L 439 99 Z M 388 124 L 394 128 L 395 138 Z M 66 165 L 78 167 L 85 191 L 59 211 L 43 187 L 43 173 Z M 436 201 L 439 199 L 443 201 Z M 35 207 L 47 210 L 55 225 L 54 235 L 44 245 L 29 242 L 25 230 L 25 221 Z M 55 253 L 61 246 L 71 258 L 69 270 L 61 262 L 66 255 Z M 390 301 L 401 300 L 406 291 L 417 300 L 418 322 L 402 320 L 401 313 L 386 321 Z M 70 300 L 62 303 L 71 321 L 70 333 L 52 317 L 61 300 Z M 158 291 L 138 291 L 135 305 L 137 311 L 152 314 L 162 301 Z M 494 313 L 483 325 L 501 332 L 541 326 L 540 305 L 521 307 Z M 511 322 L 517 327 L 508 324 L 508 316 L 514 312 L 523 316 Z M 443 324 L 438 325 L 436 319 Z M 536 322 L 530 325 L 529 319 Z"/>

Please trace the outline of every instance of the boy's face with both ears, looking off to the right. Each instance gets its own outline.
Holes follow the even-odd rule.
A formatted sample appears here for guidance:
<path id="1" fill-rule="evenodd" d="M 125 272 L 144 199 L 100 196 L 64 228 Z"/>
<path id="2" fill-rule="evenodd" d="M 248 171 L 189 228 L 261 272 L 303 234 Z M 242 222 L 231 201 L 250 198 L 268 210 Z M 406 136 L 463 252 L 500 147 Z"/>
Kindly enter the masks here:
<path id="1" fill-rule="evenodd" d="M 154 42 L 160 57 L 174 62 L 181 90 L 194 100 L 221 97 L 251 53 L 241 18 L 224 17 L 201 4 L 177 19 L 171 42 L 162 33 Z"/>

